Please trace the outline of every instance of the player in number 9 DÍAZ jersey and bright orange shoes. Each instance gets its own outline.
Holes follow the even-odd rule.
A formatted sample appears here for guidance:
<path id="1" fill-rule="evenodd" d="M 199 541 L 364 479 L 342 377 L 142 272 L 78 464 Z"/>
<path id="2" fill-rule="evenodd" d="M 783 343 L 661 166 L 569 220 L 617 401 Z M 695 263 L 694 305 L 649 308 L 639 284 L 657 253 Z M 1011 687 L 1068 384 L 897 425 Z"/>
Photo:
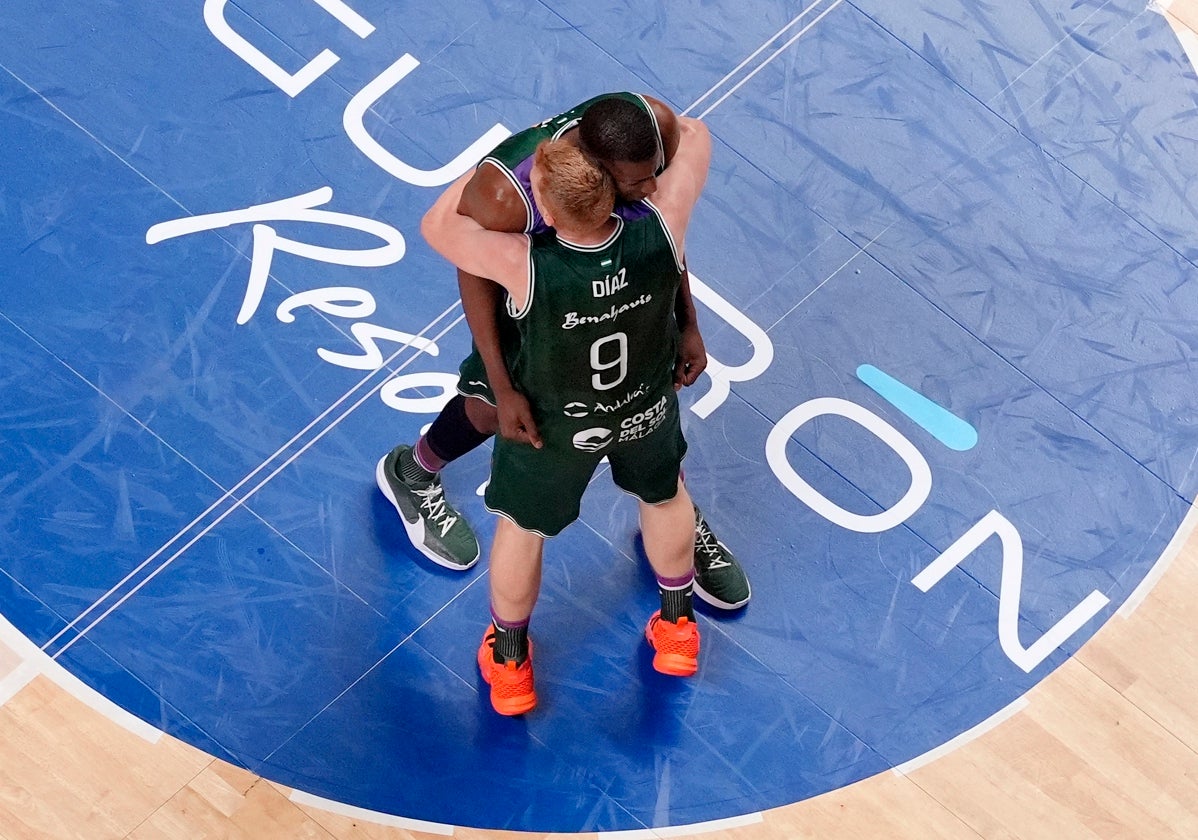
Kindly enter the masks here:
<path id="1" fill-rule="evenodd" d="M 674 161 L 647 214 L 609 214 L 615 185 L 574 144 L 543 141 L 531 183 L 551 230 L 494 232 L 456 212 L 468 176 L 450 187 L 422 224 L 438 253 L 507 291 L 518 331 L 503 362 L 530 401 L 541 446 L 498 437 L 486 506 L 501 514 L 490 556 L 491 626 L 478 651 L 492 707 L 522 714 L 537 703 L 528 622 L 540 590 L 544 540 L 573 522 L 603 458 L 618 487 L 639 501 L 645 550 L 660 609 L 646 637 L 653 666 L 690 676 L 700 634 L 692 610 L 694 503 L 679 478 L 686 442 L 674 393 L 674 298 L 683 241 L 710 161 L 710 137 L 680 120 Z M 619 395 L 610 412 L 589 406 Z"/>

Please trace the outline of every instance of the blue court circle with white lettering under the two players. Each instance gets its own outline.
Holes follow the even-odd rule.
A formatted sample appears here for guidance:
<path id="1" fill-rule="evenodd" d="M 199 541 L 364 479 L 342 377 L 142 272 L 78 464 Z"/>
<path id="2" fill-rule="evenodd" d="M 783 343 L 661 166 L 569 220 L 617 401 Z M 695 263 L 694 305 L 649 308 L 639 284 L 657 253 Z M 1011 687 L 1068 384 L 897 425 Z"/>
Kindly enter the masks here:
<path id="1" fill-rule="evenodd" d="M 470 346 L 422 214 L 605 90 L 714 135 L 686 477 L 754 598 L 654 672 L 600 475 L 501 719 L 486 564 L 418 555 L 374 465 Z M 538 832 L 817 796 L 1016 701 L 1193 503 L 1198 79 L 1144 0 L 10 0 L 0 102 L 0 612 L 307 793 Z M 484 544 L 488 473 L 444 473 Z"/>

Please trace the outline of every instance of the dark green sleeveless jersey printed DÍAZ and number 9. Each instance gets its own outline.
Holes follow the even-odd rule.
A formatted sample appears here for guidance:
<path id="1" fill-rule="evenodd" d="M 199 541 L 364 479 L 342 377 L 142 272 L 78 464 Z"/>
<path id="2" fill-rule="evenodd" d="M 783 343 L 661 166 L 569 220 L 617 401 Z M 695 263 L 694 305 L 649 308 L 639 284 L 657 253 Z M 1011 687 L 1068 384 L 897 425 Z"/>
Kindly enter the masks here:
<path id="1" fill-rule="evenodd" d="M 673 387 L 682 266 L 645 204 L 651 212 L 636 222 L 613 217 L 601 244 L 573 244 L 551 230 L 531 236 L 528 303 L 513 312 L 509 302 L 519 337 L 504 350 L 538 424 L 627 418 Z"/>

